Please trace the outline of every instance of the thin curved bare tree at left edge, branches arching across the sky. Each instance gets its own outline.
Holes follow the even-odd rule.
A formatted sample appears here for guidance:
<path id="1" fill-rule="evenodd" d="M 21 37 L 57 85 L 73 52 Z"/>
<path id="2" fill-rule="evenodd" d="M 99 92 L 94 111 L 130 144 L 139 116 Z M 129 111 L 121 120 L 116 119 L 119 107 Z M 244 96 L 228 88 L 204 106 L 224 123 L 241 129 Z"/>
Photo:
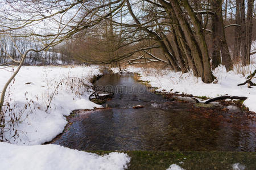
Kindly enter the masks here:
<path id="1" fill-rule="evenodd" d="M 93 5 L 90 4 L 92 2 Z M 19 8 L 15 8 L 16 3 L 19 3 Z M 1 91 L 0 123 L 2 123 L 2 117 L 4 117 L 3 107 L 5 107 L 5 94 L 7 87 L 19 73 L 19 70 L 24 64 L 29 53 L 38 53 L 43 50 L 47 50 L 48 48 L 69 39 L 77 32 L 93 27 L 102 20 L 111 16 L 114 12 L 117 12 L 124 3 L 125 1 L 121 0 L 109 2 L 104 5 L 102 5 L 100 1 L 6 1 L 6 7 L 8 10 L 1 11 L 0 13 L 0 18 L 2 19 L 0 22 L 1 39 L 2 37 L 12 37 L 12 39 L 15 37 L 27 37 L 30 38 L 31 41 L 34 40 L 34 42 L 40 42 L 41 45 L 39 48 L 32 46 L 32 48 L 21 52 L 18 45 L 13 41 L 16 50 L 21 56 L 20 60 L 16 60 L 11 57 L 8 52 L 5 52 L 11 60 L 18 63 L 18 67 L 16 67 L 14 74 L 7 80 Z M 115 4 L 113 10 L 108 14 L 101 14 L 100 10 L 111 4 Z M 83 17 L 79 17 L 80 12 L 85 12 L 85 15 L 83 15 Z M 46 25 L 43 26 L 42 23 Z M 37 30 L 39 27 L 48 27 L 51 31 L 41 33 Z M 46 42 L 44 41 L 46 39 L 48 41 L 47 43 L 44 43 Z"/>

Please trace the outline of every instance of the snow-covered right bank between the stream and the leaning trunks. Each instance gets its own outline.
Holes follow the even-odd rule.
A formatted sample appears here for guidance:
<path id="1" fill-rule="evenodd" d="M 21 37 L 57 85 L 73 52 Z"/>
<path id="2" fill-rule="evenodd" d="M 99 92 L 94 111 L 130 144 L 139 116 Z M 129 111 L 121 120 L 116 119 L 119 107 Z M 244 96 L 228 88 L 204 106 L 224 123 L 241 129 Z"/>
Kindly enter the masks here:
<path id="1" fill-rule="evenodd" d="M 256 87 L 247 88 L 245 86 L 237 86 L 237 84 L 245 82 L 246 78 L 243 74 L 248 74 L 256 69 L 256 55 L 254 55 L 251 65 L 242 67 L 234 66 L 233 71 L 228 73 L 224 66 L 217 67 L 213 74 L 218 82 L 216 84 L 205 84 L 201 78 L 196 78 L 193 73 L 159 70 L 152 68 L 142 68 L 129 66 L 125 70 L 127 73 L 139 73 L 141 80 L 149 81 L 152 87 L 157 87 L 156 91 L 179 92 L 179 94 L 191 94 L 194 96 L 217 97 L 221 95 L 246 96 L 248 97 L 243 104 L 256 112 Z M 114 73 L 118 73 L 118 68 L 112 68 Z M 242 74 L 243 73 L 243 74 Z M 247 75 L 246 75 L 247 76 Z M 253 80 L 256 83 L 256 80 Z"/>

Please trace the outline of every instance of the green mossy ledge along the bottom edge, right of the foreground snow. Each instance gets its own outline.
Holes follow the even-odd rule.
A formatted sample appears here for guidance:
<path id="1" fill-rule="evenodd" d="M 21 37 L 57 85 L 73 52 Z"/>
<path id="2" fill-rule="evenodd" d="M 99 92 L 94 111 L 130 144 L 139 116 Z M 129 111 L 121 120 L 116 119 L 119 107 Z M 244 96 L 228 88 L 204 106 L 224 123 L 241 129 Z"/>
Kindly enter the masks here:
<path id="1" fill-rule="evenodd" d="M 104 155 L 112 151 L 90 151 Z M 125 151 L 130 157 L 129 169 L 167 169 L 171 164 L 184 169 L 232 169 L 241 163 L 255 169 L 256 152 L 221 151 Z"/>

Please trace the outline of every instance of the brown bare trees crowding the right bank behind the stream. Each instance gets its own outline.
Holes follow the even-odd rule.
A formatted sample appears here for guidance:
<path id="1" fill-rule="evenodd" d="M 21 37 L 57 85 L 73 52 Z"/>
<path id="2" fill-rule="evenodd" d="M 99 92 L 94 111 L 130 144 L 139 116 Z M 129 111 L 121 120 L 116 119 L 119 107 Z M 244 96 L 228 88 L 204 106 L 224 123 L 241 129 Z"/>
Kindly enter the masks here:
<path id="1" fill-rule="evenodd" d="M 78 33 L 68 48 L 83 62 L 164 62 L 211 83 L 219 65 L 230 71 L 239 61 L 250 64 L 255 9 L 252 0 L 125 1 L 118 14 Z"/>

